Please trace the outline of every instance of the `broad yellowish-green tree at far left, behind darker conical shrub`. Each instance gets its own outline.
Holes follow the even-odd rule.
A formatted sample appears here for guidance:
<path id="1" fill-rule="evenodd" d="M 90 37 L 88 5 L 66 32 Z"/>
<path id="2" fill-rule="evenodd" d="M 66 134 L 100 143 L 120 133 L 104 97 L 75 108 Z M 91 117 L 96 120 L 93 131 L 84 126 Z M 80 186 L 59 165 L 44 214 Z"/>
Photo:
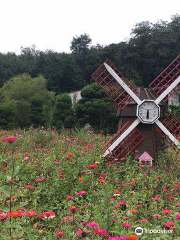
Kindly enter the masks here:
<path id="1" fill-rule="evenodd" d="M 46 79 L 42 76 L 32 78 L 22 74 L 6 82 L 0 90 L 4 103 L 14 111 L 16 127 L 26 127 L 30 124 L 30 111 L 35 94 L 41 96 L 43 101 L 43 119 L 46 124 L 50 122 L 51 107 L 54 93 L 46 88 Z"/>

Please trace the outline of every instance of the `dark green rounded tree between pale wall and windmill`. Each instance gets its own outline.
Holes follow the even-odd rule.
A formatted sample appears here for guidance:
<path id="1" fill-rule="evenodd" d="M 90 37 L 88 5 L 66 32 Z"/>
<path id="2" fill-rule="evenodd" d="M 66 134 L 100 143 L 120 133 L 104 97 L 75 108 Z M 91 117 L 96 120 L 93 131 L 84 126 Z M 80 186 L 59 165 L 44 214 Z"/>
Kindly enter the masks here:
<path id="1" fill-rule="evenodd" d="M 82 89 L 82 99 L 75 107 L 79 124 L 89 123 L 95 130 L 115 132 L 117 127 L 116 107 L 103 90 L 93 83 Z"/>

